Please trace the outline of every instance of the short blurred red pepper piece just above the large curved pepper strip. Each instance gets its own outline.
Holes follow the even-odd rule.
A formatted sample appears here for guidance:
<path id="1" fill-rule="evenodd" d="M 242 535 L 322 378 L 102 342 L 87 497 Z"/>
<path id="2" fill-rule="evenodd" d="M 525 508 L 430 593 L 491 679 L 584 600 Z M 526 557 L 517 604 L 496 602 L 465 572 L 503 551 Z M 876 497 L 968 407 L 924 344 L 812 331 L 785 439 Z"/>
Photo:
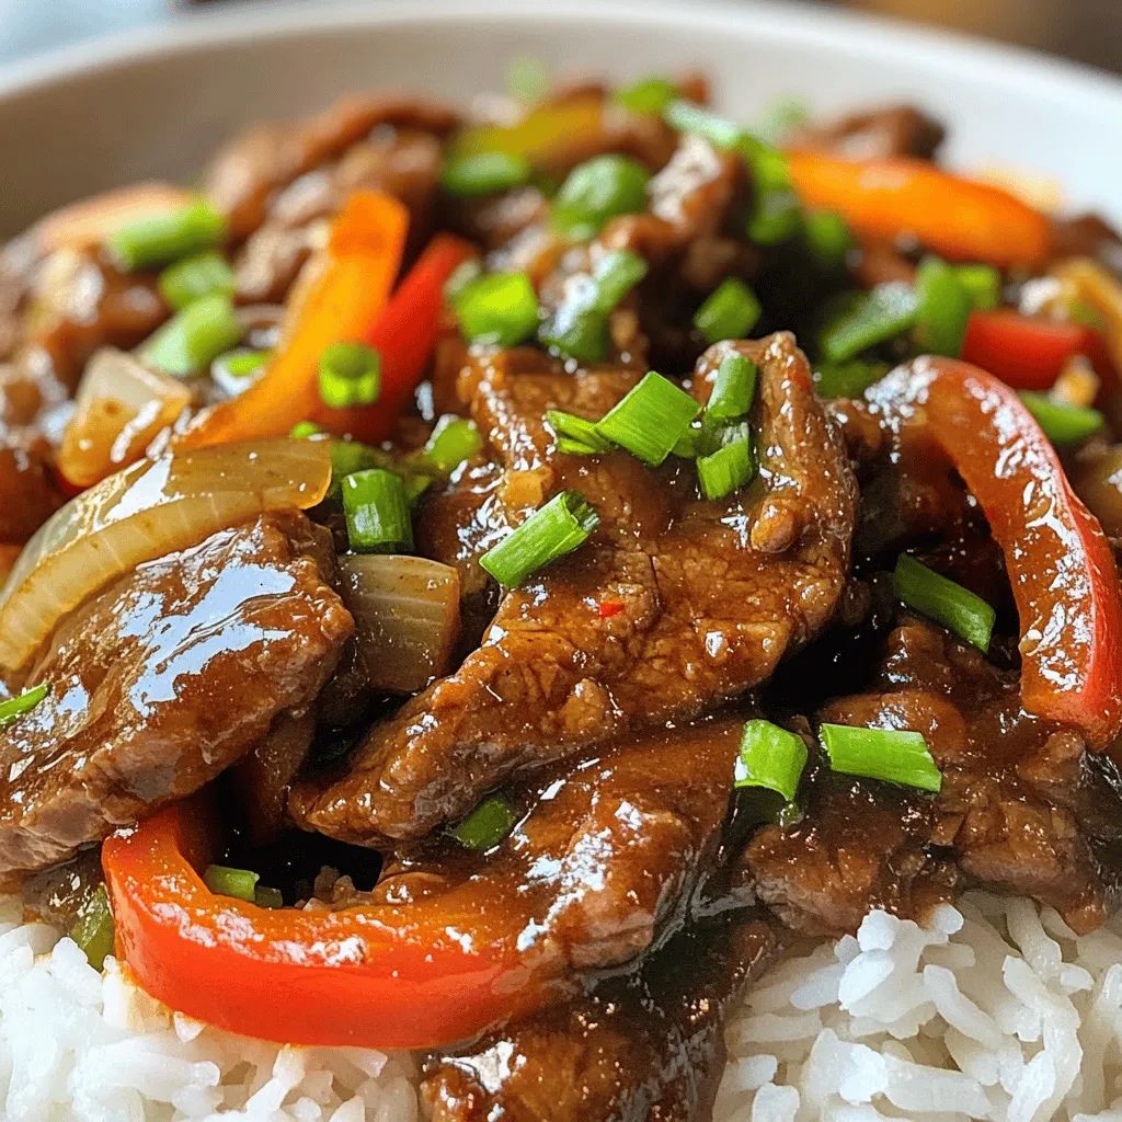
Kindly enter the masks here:
<path id="1" fill-rule="evenodd" d="M 1014 389 L 1048 389 L 1076 355 L 1110 376 L 1106 340 L 1084 323 L 1037 319 L 1008 307 L 972 312 L 966 322 L 963 360 Z"/>

